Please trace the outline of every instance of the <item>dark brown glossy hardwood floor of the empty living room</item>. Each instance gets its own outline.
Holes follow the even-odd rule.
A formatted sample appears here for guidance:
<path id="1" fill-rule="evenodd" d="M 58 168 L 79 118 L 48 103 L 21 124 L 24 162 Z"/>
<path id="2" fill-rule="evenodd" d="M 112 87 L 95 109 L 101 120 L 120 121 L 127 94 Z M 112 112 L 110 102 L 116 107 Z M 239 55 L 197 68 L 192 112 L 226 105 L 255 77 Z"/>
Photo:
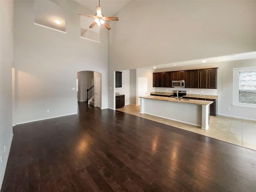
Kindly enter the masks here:
<path id="1" fill-rule="evenodd" d="M 256 151 L 110 109 L 14 127 L 3 192 L 256 192 Z"/>

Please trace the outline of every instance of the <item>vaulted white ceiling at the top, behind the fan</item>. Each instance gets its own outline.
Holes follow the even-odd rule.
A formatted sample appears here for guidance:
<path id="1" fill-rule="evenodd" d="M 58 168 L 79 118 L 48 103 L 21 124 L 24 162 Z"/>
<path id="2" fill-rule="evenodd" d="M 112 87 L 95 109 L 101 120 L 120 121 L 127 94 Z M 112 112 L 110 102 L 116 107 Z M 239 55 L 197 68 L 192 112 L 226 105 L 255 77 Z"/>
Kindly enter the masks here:
<path id="1" fill-rule="evenodd" d="M 99 6 L 98 0 L 74 0 L 81 4 L 82 6 L 85 6 L 92 12 L 96 13 L 96 6 Z M 102 14 L 104 16 L 111 17 L 116 12 L 121 10 L 126 4 L 128 4 L 131 0 L 100 0 L 100 7 L 102 10 Z M 87 14 L 86 12 L 81 14 Z"/>

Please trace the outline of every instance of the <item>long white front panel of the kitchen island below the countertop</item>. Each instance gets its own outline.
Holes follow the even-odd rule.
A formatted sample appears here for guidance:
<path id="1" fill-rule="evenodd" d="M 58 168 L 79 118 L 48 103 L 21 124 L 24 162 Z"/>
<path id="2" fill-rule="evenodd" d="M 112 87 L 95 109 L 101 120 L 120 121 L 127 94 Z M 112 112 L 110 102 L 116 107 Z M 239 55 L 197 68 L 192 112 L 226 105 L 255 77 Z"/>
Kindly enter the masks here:
<path id="1" fill-rule="evenodd" d="M 202 126 L 202 106 L 182 102 L 142 98 L 143 105 L 140 112 L 184 122 L 187 124 Z"/>

